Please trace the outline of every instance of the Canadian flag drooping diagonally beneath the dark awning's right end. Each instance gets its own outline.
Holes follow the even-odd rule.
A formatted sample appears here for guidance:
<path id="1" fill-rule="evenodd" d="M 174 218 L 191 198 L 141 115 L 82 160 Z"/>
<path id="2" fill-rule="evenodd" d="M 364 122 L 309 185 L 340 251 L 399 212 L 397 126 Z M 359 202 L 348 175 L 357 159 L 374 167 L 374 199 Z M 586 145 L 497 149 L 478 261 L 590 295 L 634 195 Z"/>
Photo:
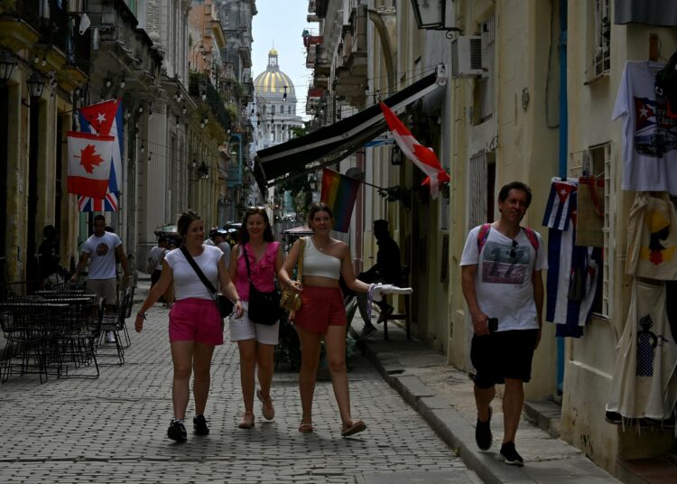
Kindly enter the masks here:
<path id="1" fill-rule="evenodd" d="M 437 194 L 440 191 L 440 183 L 451 180 L 449 173 L 442 168 L 440 160 L 437 159 L 435 152 L 433 152 L 431 148 L 423 146 L 416 141 L 416 138 L 413 137 L 411 131 L 403 125 L 403 122 L 400 121 L 399 117 L 395 116 L 390 107 L 385 106 L 383 101 L 379 101 L 378 104 L 381 106 L 385 122 L 393 132 L 394 139 L 402 150 L 402 153 L 412 160 L 413 164 L 418 166 L 422 172 L 428 175 L 421 184 L 429 184 L 431 187 L 431 196 L 433 199 L 436 199 Z"/>

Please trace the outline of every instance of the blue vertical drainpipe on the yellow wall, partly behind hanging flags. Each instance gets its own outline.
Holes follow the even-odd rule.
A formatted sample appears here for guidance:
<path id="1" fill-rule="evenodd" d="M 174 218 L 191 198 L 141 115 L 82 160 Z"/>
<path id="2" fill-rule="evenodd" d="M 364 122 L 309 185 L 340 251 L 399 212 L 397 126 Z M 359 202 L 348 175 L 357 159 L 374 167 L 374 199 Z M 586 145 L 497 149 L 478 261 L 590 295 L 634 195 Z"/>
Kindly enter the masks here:
<path id="1" fill-rule="evenodd" d="M 560 0 L 560 178 L 567 177 L 569 113 L 567 111 L 567 0 Z M 564 338 L 557 338 L 557 390 L 564 391 Z"/>

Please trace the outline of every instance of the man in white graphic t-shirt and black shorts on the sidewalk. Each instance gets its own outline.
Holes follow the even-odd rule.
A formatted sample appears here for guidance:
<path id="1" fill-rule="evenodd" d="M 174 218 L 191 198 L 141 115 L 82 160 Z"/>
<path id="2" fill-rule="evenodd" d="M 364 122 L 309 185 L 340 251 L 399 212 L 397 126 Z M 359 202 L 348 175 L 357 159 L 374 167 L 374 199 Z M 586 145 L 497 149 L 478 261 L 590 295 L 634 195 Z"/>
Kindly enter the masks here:
<path id="1" fill-rule="evenodd" d="M 515 434 L 524 405 L 524 382 L 531 379 L 533 351 L 541 340 L 543 279 L 547 269 L 543 239 L 520 222 L 532 200 L 521 181 L 498 194 L 500 217 L 470 230 L 463 249 L 463 294 L 468 302 L 474 335 L 470 359 L 477 370 L 475 440 L 482 451 L 491 447 L 491 401 L 496 384 L 505 383 L 503 397 L 506 464 L 522 466 Z"/>

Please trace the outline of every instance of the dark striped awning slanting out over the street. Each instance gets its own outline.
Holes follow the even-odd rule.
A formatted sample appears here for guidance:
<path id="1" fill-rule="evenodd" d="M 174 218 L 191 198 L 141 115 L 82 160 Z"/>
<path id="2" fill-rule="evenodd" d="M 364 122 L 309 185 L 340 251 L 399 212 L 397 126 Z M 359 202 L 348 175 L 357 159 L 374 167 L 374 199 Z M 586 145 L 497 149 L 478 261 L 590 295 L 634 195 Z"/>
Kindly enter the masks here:
<path id="1" fill-rule="evenodd" d="M 436 72 L 385 98 L 384 103 L 395 114 L 400 113 L 446 82 L 444 68 L 438 68 Z M 281 179 L 287 173 L 303 172 L 309 163 L 320 162 L 315 167 L 317 169 L 326 164 L 338 163 L 387 129 L 381 108 L 375 104 L 333 125 L 265 148 L 257 152 L 255 159 L 255 178 L 259 189 L 265 196 L 266 188 L 274 185 L 276 179 Z"/>

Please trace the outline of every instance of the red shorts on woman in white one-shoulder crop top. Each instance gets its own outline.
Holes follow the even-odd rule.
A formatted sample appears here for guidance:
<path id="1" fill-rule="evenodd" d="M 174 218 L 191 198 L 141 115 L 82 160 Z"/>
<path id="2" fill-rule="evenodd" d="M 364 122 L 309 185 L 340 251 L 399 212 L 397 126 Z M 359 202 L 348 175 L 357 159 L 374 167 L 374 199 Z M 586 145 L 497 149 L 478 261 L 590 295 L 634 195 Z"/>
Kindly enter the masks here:
<path id="1" fill-rule="evenodd" d="M 346 307 L 338 287 L 304 285 L 301 309 L 294 316 L 294 324 L 312 332 L 326 333 L 329 326 L 346 325 Z"/>

